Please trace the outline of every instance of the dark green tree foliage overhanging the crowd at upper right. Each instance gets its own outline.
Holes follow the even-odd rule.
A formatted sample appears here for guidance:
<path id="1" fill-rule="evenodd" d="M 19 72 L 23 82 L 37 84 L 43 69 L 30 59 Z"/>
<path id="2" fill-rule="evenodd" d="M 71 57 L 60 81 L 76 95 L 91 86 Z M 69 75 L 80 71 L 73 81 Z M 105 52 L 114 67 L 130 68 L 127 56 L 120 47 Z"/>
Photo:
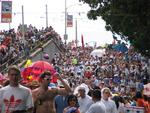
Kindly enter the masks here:
<path id="1" fill-rule="evenodd" d="M 89 19 L 102 17 L 106 30 L 129 40 L 135 49 L 150 56 L 150 0 L 80 0 L 89 4 Z"/>

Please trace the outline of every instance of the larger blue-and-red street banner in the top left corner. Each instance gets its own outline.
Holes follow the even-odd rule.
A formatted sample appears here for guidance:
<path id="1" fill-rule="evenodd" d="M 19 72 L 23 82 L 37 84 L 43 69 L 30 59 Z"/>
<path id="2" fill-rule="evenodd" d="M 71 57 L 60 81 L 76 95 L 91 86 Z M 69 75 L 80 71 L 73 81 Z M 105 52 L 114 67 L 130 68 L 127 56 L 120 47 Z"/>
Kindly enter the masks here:
<path id="1" fill-rule="evenodd" d="M 11 21 L 12 21 L 12 1 L 2 1 L 1 22 L 11 23 Z"/>

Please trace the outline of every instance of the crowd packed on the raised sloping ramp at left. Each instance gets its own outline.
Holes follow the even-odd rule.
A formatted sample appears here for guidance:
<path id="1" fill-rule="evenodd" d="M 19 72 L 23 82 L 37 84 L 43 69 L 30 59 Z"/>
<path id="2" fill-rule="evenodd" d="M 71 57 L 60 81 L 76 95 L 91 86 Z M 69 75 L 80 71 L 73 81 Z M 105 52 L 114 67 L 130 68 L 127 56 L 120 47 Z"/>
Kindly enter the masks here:
<path id="1" fill-rule="evenodd" d="M 18 59 L 26 59 L 33 49 L 39 47 L 42 42 L 46 42 L 52 37 L 61 40 L 60 36 L 51 26 L 38 30 L 36 27 L 29 25 L 25 29 L 24 38 L 22 36 L 21 25 L 18 26 L 17 31 L 15 31 L 15 29 L 0 31 L 1 69 L 3 69 L 3 67 L 6 68 L 12 63 L 17 64 L 19 62 Z"/>

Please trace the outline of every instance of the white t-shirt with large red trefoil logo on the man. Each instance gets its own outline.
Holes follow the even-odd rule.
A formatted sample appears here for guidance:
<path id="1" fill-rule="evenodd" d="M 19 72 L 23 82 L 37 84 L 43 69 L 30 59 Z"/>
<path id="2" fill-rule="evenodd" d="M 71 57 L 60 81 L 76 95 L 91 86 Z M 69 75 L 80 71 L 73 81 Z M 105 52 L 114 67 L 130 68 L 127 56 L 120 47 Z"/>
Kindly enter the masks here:
<path id="1" fill-rule="evenodd" d="M 0 110 L 1 113 L 11 113 L 15 110 L 27 110 L 33 107 L 31 90 L 19 85 L 10 85 L 0 89 Z"/>

